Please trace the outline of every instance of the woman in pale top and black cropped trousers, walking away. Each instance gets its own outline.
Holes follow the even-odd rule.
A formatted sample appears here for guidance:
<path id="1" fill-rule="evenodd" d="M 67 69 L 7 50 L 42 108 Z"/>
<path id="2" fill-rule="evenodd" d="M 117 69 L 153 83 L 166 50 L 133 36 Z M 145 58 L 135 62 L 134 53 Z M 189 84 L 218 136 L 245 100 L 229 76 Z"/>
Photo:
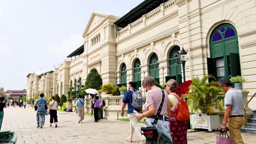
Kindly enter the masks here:
<path id="1" fill-rule="evenodd" d="M 50 127 L 51 124 L 54 122 L 55 123 L 55 128 L 57 128 L 57 123 L 58 123 L 58 119 L 57 119 L 57 107 L 58 107 L 58 103 L 57 101 L 55 101 L 55 96 L 51 96 L 51 101 L 49 103 L 49 115 L 50 115 Z"/>

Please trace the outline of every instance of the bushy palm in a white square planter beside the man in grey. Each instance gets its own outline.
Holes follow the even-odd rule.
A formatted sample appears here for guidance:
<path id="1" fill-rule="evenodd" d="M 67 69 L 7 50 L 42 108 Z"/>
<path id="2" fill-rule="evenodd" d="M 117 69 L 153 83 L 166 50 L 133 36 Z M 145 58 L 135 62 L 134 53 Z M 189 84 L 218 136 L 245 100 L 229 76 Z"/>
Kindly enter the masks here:
<path id="1" fill-rule="evenodd" d="M 215 81 L 208 82 L 208 79 Z M 196 112 L 192 117 L 192 128 L 219 129 L 219 115 L 214 115 L 214 110 L 223 111 L 222 99 L 223 90 L 216 82 L 216 78 L 211 75 L 203 76 L 202 79 L 196 77 L 191 85 L 190 92 L 186 95 L 191 112 Z"/>

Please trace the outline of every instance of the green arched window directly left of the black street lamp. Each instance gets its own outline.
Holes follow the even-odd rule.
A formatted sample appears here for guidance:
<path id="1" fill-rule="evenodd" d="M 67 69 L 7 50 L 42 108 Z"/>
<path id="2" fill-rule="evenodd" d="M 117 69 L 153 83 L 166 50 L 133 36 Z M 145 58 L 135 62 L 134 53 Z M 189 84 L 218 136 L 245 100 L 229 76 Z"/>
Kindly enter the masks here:
<path id="1" fill-rule="evenodd" d="M 181 75 L 181 64 L 179 64 L 179 51 L 181 48 L 179 46 L 172 47 L 172 50 L 169 55 L 169 77 L 166 80 L 174 79 L 178 82 L 178 85 L 182 83 Z"/>

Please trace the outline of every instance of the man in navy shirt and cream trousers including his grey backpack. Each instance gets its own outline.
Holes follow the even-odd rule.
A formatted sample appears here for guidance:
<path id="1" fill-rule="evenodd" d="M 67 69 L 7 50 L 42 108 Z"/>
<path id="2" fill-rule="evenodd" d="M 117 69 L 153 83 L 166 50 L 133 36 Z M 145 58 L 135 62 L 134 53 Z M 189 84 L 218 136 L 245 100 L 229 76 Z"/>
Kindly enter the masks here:
<path id="1" fill-rule="evenodd" d="M 124 94 L 123 98 L 123 105 L 121 109 L 121 116 L 124 116 L 124 109 L 126 107 L 126 104 L 128 105 L 128 111 L 127 115 L 130 119 L 130 131 L 128 133 L 128 139 L 125 141 L 132 142 L 132 136 L 134 133 L 134 130 L 136 130 L 136 133 L 138 136 L 141 137 L 141 143 L 145 143 L 145 137 L 141 135 L 141 127 L 138 125 L 138 121 L 136 119 L 136 113 L 133 112 L 133 110 L 139 112 L 142 112 L 142 105 L 143 105 L 143 99 L 141 93 L 135 89 L 136 85 L 135 82 L 130 81 L 128 83 L 129 90 L 127 90 Z"/>

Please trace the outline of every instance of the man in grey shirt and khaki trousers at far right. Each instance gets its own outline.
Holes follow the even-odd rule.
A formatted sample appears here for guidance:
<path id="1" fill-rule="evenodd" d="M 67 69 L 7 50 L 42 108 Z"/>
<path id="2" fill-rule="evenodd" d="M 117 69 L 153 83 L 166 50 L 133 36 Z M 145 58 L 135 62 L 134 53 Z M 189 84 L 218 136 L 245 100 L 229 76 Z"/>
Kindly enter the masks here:
<path id="1" fill-rule="evenodd" d="M 241 127 L 245 118 L 243 117 L 243 95 L 240 91 L 232 88 L 229 80 L 219 80 L 219 85 L 225 92 L 225 114 L 222 123 L 222 130 L 229 128 L 228 134 L 234 144 L 243 143 Z"/>

